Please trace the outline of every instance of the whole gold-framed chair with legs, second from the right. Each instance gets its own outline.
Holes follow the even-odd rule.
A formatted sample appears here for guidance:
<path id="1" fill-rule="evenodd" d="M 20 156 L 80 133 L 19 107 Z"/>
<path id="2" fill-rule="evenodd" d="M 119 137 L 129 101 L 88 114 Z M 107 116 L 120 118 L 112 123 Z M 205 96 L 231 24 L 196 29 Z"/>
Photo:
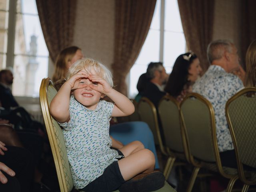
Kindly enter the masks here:
<path id="1" fill-rule="evenodd" d="M 188 145 L 189 161 L 194 166 L 187 191 L 191 191 L 201 167 L 219 172 L 230 179 L 226 192 L 231 192 L 238 179 L 237 169 L 224 167 L 217 144 L 214 109 L 203 96 L 188 94 L 180 104 L 180 115 Z"/>

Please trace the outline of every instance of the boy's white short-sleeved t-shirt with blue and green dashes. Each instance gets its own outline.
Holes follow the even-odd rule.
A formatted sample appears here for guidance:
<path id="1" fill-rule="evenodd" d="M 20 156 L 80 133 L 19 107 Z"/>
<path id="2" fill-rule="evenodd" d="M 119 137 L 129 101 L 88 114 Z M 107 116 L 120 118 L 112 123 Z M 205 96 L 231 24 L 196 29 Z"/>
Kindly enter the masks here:
<path id="1" fill-rule="evenodd" d="M 114 104 L 100 101 L 95 110 L 80 104 L 70 97 L 70 121 L 60 123 L 76 189 L 101 176 L 104 170 L 120 158 L 110 149 L 109 121 Z"/>

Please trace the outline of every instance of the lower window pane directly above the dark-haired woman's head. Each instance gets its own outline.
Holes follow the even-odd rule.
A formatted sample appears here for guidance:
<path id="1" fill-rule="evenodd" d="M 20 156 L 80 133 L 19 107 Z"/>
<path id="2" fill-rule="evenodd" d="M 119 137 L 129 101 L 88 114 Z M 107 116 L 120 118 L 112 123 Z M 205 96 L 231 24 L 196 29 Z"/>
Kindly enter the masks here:
<path id="1" fill-rule="evenodd" d="M 186 40 L 183 33 L 164 32 L 164 66 L 170 73 L 176 58 L 186 51 Z"/>

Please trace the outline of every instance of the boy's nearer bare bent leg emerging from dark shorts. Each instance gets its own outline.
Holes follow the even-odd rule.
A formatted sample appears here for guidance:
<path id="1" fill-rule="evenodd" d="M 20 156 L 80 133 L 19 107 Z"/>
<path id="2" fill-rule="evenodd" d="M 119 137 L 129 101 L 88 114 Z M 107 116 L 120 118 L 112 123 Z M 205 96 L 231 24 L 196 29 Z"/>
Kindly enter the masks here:
<path id="1" fill-rule="evenodd" d="M 140 173 L 154 170 L 155 157 L 148 149 L 138 150 L 118 161 L 118 166 L 124 180 L 130 180 Z"/>

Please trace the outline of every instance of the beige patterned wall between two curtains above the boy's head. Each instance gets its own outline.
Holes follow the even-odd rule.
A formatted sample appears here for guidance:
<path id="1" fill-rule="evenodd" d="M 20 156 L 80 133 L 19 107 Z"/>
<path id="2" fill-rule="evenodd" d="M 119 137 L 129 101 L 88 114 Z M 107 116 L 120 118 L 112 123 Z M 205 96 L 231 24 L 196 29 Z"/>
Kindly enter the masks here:
<path id="1" fill-rule="evenodd" d="M 78 0 L 74 45 L 110 68 L 114 55 L 114 0 Z"/>

